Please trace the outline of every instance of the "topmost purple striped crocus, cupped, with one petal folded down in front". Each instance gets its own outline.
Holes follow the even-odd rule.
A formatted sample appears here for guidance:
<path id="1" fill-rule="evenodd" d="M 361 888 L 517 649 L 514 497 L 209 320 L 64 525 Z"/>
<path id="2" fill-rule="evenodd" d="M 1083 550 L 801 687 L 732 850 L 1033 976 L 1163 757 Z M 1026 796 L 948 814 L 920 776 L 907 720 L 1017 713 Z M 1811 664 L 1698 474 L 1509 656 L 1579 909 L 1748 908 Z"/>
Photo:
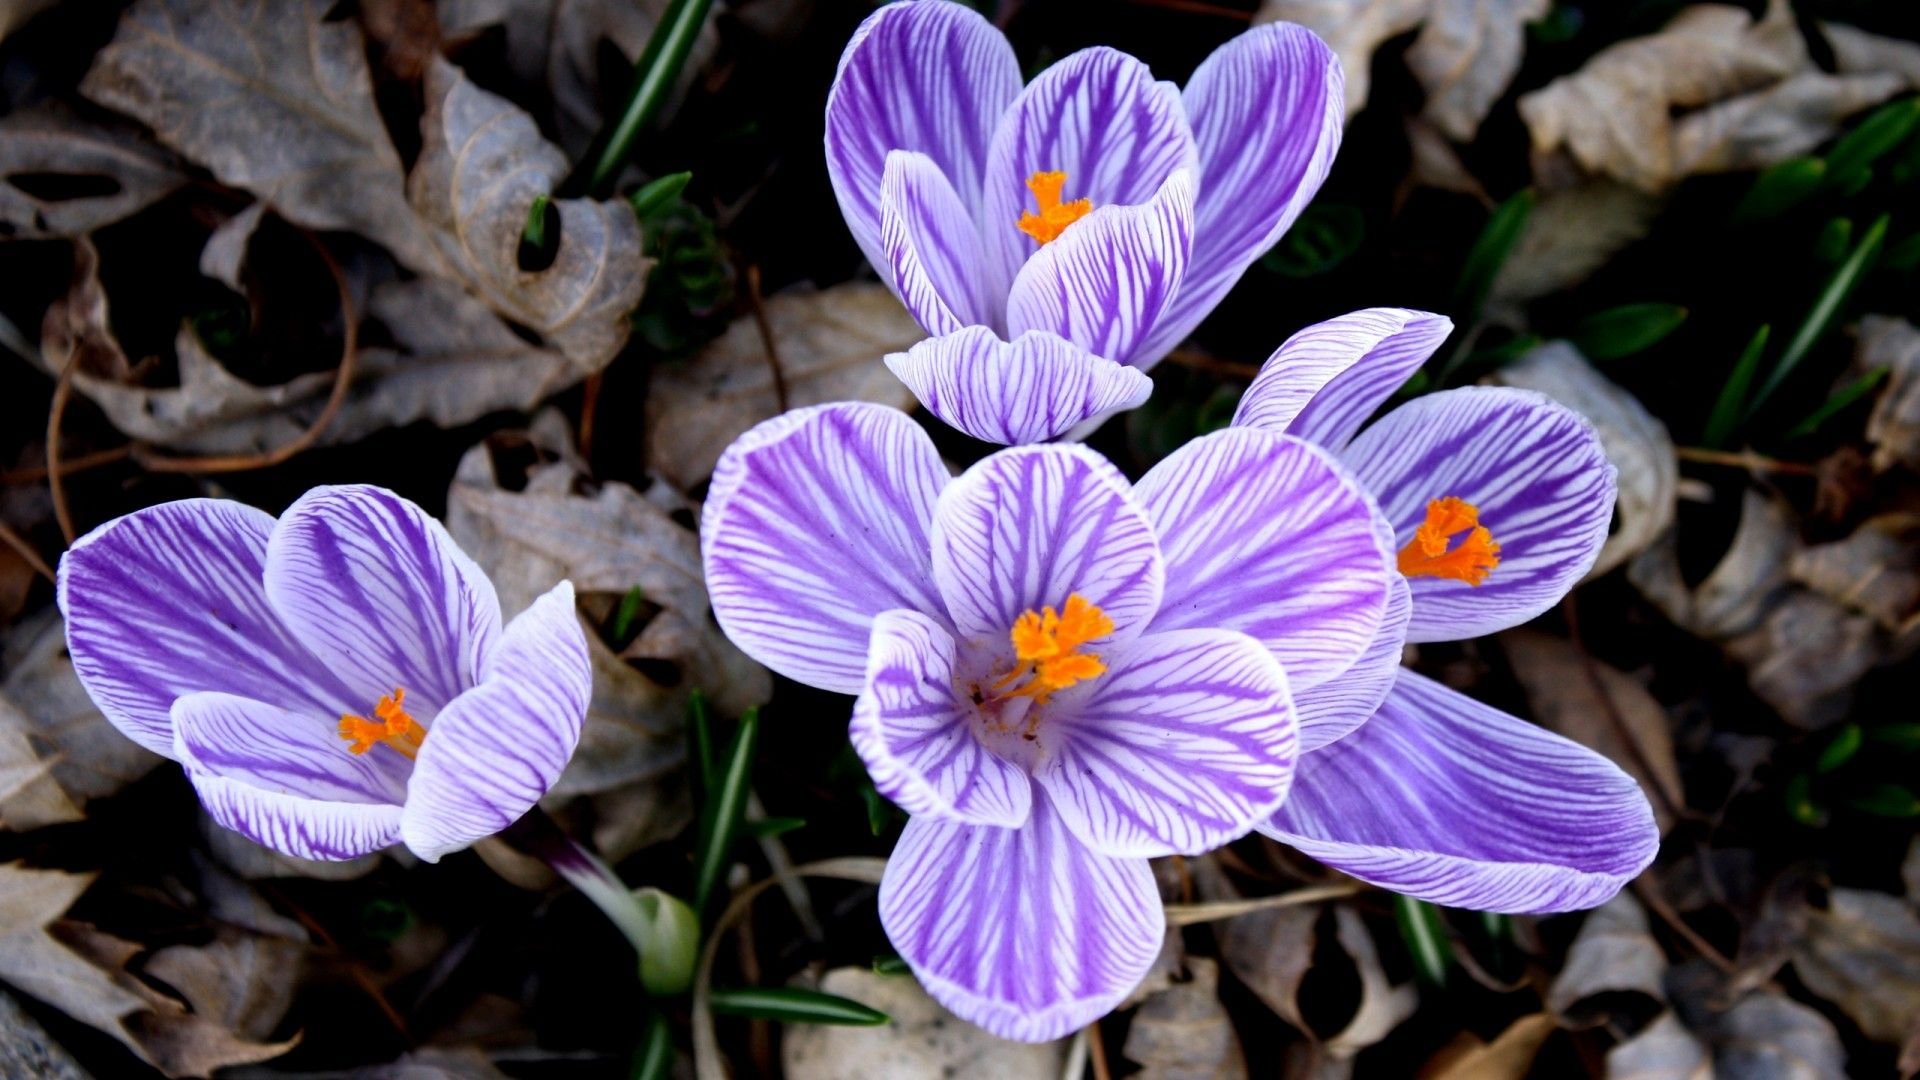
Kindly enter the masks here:
<path id="1" fill-rule="evenodd" d="M 947 0 L 874 12 L 828 98 L 828 173 L 860 250 L 935 334 L 887 365 L 991 442 L 1146 400 L 1185 338 L 1319 190 L 1340 65 L 1271 23 L 1187 88 L 1089 48 L 1021 86 L 1006 38 Z"/>

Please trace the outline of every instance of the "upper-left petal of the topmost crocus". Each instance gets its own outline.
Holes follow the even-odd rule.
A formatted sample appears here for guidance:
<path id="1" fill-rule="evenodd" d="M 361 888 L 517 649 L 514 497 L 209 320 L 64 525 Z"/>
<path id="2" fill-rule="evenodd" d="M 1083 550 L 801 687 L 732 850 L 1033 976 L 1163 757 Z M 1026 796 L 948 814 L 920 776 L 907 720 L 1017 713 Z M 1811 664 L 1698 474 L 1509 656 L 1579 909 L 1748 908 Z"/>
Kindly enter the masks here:
<path id="1" fill-rule="evenodd" d="M 962 4 L 889 4 L 860 23 L 828 96 L 828 177 L 860 250 L 887 265 L 879 186 L 887 152 L 925 154 L 977 213 L 987 146 L 1020 94 L 1000 31 Z"/>

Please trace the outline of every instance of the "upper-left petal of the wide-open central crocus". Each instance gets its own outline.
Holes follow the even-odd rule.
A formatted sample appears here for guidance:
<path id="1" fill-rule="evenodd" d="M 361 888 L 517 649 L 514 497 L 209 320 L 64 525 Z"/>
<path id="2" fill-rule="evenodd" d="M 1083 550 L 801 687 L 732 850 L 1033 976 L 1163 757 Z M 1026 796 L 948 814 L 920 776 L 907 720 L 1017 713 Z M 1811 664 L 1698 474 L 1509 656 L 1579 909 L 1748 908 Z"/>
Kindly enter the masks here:
<path id="1" fill-rule="evenodd" d="M 837 694 L 866 686 L 881 611 L 943 611 L 927 555 L 947 465 L 906 413 L 839 402 L 770 419 L 720 457 L 701 521 L 735 646 Z"/>

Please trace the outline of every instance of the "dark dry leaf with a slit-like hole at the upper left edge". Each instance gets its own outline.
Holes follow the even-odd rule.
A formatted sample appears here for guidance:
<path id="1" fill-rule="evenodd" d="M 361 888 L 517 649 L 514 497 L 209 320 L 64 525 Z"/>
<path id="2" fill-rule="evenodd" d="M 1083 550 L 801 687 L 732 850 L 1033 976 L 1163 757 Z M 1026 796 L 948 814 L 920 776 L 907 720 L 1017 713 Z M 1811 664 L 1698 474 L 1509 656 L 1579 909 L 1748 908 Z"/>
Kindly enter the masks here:
<path id="1" fill-rule="evenodd" d="M 60 192 L 40 183 L 108 183 L 111 190 Z M 175 160 L 119 127 L 104 127 L 44 104 L 0 115 L 0 236 L 83 236 L 140 211 L 186 183 Z M 38 188 L 38 190 L 35 190 Z"/>

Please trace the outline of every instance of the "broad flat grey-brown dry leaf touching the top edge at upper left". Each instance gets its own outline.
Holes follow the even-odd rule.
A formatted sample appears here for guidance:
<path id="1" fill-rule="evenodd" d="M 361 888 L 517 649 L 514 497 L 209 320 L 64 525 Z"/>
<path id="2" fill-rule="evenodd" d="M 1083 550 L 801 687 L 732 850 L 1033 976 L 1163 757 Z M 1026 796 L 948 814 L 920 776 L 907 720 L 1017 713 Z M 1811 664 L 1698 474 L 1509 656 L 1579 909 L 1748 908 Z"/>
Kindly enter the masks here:
<path id="1" fill-rule="evenodd" d="M 384 244 L 440 273 L 407 206 L 359 27 L 330 0 L 140 0 L 81 83 L 94 102 L 307 229 Z"/>

